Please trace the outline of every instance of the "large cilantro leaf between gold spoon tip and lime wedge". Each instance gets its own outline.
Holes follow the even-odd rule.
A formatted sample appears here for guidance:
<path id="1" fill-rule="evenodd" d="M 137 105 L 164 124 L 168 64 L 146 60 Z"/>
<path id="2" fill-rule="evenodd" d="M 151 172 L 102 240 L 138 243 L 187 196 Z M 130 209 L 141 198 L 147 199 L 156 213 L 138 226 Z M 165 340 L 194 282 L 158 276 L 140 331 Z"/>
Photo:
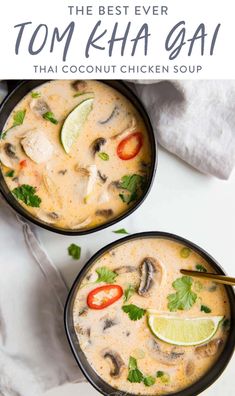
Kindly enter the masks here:
<path id="1" fill-rule="evenodd" d="M 170 294 L 168 298 L 168 309 L 170 311 L 189 310 L 197 300 L 197 294 L 192 291 L 193 280 L 190 276 L 182 276 L 176 279 L 172 286 L 176 293 Z"/>

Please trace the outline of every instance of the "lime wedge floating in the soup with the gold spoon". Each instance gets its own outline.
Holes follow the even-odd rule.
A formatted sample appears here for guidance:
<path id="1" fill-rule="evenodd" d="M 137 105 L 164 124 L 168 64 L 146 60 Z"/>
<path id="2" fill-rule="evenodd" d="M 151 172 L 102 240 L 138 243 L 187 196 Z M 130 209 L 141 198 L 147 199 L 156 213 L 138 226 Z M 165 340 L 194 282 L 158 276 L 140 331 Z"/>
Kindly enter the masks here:
<path id="1" fill-rule="evenodd" d="M 216 333 L 223 316 L 182 318 L 162 313 L 148 312 L 148 324 L 160 340 L 173 345 L 203 344 Z"/>

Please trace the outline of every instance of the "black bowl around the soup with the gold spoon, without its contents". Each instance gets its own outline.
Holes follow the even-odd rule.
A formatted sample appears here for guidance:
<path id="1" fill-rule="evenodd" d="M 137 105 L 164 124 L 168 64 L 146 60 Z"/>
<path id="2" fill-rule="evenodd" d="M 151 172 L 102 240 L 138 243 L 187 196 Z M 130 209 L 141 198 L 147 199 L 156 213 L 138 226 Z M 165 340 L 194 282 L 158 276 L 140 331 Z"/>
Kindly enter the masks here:
<path id="1" fill-rule="evenodd" d="M 137 396 L 136 394 L 127 393 L 123 391 L 119 391 L 115 388 L 112 388 L 108 383 L 102 380 L 98 376 L 98 374 L 94 371 L 94 369 L 88 363 L 85 354 L 80 348 L 79 341 L 77 339 L 74 325 L 73 325 L 73 306 L 74 300 L 76 297 L 77 290 L 81 284 L 81 281 L 86 276 L 87 272 L 89 271 L 90 267 L 94 264 L 96 260 L 98 260 L 102 255 L 107 253 L 107 251 L 113 249 L 114 247 L 120 246 L 128 241 L 133 239 L 142 239 L 142 238 L 165 238 L 170 239 L 179 243 L 182 243 L 184 246 L 189 247 L 190 249 L 194 250 L 198 254 L 200 254 L 212 267 L 213 269 L 221 275 L 225 275 L 223 269 L 220 265 L 215 261 L 213 257 L 211 257 L 205 250 L 200 248 L 199 246 L 195 245 L 194 243 L 181 238 L 174 234 L 169 234 L 166 232 L 142 232 L 138 234 L 133 234 L 127 236 L 125 238 L 121 238 L 109 245 L 105 246 L 101 250 L 99 250 L 84 266 L 84 268 L 80 271 L 75 282 L 70 290 L 66 306 L 65 306 L 65 330 L 67 334 L 67 338 L 74 354 L 74 357 L 82 370 L 83 374 L 87 378 L 87 380 L 97 389 L 101 394 L 108 396 L 108 395 L 117 395 L 117 396 Z M 176 393 L 170 393 L 170 396 L 196 396 L 207 389 L 213 382 L 217 380 L 217 378 L 222 374 L 225 367 L 229 363 L 235 347 L 235 332 L 234 323 L 235 323 L 235 294 L 233 288 L 231 286 L 225 286 L 227 295 L 230 302 L 230 310 L 231 310 L 231 330 L 228 335 L 228 339 L 226 345 L 219 356 L 218 361 L 216 364 L 205 373 L 203 377 L 201 377 L 197 382 Z"/>

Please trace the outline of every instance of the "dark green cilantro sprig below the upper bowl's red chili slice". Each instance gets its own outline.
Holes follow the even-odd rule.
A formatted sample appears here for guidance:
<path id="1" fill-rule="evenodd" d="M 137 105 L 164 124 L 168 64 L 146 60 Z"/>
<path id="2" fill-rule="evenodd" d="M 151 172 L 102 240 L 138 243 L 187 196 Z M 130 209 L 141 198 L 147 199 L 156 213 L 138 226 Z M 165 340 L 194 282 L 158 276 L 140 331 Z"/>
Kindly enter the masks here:
<path id="1" fill-rule="evenodd" d="M 146 177 L 133 174 L 133 175 L 125 175 L 122 177 L 120 182 L 120 188 L 127 190 L 129 194 L 119 194 L 121 200 L 127 204 L 135 201 L 141 191 L 144 191 L 146 186 Z"/>

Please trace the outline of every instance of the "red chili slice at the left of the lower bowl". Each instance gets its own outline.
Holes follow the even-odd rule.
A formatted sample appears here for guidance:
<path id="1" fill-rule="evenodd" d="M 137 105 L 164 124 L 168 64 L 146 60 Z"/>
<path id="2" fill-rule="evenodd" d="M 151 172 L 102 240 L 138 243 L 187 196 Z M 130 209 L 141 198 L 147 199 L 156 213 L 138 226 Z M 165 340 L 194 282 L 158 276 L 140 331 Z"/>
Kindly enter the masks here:
<path id="1" fill-rule="evenodd" d="M 104 309 L 115 303 L 123 295 L 119 285 L 105 285 L 92 290 L 87 296 L 87 305 L 91 309 Z"/>

